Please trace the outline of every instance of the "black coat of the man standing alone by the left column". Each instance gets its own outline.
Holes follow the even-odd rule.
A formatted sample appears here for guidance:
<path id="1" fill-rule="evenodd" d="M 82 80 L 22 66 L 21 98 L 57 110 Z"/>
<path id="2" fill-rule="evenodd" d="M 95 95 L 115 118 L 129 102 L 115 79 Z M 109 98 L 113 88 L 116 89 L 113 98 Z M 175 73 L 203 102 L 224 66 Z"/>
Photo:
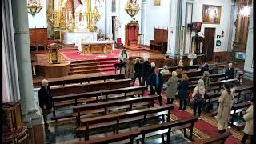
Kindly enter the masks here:
<path id="1" fill-rule="evenodd" d="M 46 109 L 50 110 L 53 108 L 53 101 L 51 97 L 50 87 L 48 86 L 47 90 L 45 87 L 41 86 L 41 89 L 38 91 L 39 106 L 43 109 L 43 105 L 46 105 Z"/>

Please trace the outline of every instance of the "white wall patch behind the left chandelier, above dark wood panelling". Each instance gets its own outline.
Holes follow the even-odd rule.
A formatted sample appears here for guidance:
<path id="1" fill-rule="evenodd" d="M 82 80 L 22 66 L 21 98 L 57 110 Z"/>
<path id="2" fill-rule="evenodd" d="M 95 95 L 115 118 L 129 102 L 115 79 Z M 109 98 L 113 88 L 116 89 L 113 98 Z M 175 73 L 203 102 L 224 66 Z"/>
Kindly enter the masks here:
<path id="1" fill-rule="evenodd" d="M 46 0 L 42 0 L 42 10 L 35 14 L 32 17 L 31 14 L 27 13 L 28 20 L 29 20 L 29 28 L 46 28 L 47 27 L 47 19 L 46 19 Z"/>

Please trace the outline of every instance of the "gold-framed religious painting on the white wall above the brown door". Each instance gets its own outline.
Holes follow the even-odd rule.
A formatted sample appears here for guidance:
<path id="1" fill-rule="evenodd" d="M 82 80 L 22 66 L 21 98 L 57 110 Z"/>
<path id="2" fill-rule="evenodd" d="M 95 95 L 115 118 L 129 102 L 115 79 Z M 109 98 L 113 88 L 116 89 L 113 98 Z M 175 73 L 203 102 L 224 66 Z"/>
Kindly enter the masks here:
<path id="1" fill-rule="evenodd" d="M 222 6 L 203 5 L 202 23 L 219 24 L 221 21 Z"/>

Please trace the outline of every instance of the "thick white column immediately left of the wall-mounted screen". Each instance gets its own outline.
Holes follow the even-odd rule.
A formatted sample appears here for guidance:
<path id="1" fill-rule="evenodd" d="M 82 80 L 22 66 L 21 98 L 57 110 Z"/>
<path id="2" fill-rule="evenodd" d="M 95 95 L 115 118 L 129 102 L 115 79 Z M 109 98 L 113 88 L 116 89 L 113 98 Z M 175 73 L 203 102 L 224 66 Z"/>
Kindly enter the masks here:
<path id="1" fill-rule="evenodd" d="M 168 46 L 167 54 L 171 59 L 178 59 L 179 54 L 179 38 L 180 28 L 182 26 L 182 1 L 170 1 L 170 24 L 168 27 Z"/>

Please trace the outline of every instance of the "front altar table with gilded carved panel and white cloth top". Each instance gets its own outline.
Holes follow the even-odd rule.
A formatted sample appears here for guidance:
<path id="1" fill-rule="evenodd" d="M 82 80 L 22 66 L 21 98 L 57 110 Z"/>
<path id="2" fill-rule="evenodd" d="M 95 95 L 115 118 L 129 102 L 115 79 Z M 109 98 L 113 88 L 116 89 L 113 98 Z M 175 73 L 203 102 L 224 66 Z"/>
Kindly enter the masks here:
<path id="1" fill-rule="evenodd" d="M 113 41 L 82 42 L 78 44 L 79 54 L 110 54 L 114 50 Z"/>

